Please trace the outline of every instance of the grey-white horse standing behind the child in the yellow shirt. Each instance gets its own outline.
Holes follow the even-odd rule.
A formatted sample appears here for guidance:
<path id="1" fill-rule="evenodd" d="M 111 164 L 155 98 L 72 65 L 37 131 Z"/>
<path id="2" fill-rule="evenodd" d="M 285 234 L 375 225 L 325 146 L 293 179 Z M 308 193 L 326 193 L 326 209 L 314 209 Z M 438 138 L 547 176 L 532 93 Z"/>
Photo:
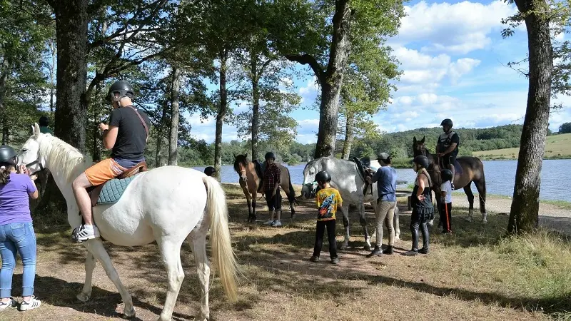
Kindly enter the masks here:
<path id="1" fill-rule="evenodd" d="M 380 168 L 378 161 L 371 161 L 371 168 Z M 345 240 L 340 246 L 341 249 L 348 248 L 349 246 L 349 205 L 355 205 L 359 211 L 359 220 L 363 226 L 365 233 L 365 250 L 370 250 L 370 237 L 367 230 L 367 221 L 365 220 L 365 206 L 364 203 L 369 203 L 373 209 L 377 208 L 377 184 L 373 184 L 373 194 L 366 193 L 363 195 L 363 187 L 365 180 L 358 172 L 357 165 L 353 161 L 347 161 L 334 157 L 322 157 L 310 161 L 305 168 L 303 168 L 303 186 L 301 188 L 301 195 L 304 198 L 311 198 L 313 196 L 313 182 L 315 182 L 315 174 L 321 170 L 327 170 L 331 175 L 331 186 L 339 190 L 341 198 L 343 198 L 343 225 L 345 227 Z M 400 227 L 398 220 L 398 208 L 395 208 L 394 216 L 395 240 L 400 237 Z"/>

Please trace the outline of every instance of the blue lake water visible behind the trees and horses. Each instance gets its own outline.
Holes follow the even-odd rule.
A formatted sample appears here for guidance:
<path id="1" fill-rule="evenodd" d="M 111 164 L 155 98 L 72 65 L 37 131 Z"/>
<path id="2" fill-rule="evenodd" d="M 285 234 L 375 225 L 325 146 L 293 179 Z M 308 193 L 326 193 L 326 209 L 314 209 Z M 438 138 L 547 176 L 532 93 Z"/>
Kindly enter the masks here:
<path id="1" fill-rule="evenodd" d="M 515 182 L 515 169 L 517 161 L 483 161 L 486 175 L 486 187 L 488 194 L 513 195 Z M 291 181 L 294 184 L 303 183 L 303 168 L 305 164 L 286 166 L 290 170 Z M 194 167 L 203 171 L 204 167 Z M 415 173 L 412 168 L 397 168 L 399 180 L 407 180 L 413 183 Z M 231 165 L 222 166 L 222 183 L 238 183 L 238 174 Z M 545 160 L 541 170 L 540 199 L 542 200 L 566 200 L 570 201 L 569 188 L 565 188 L 571 180 L 571 160 Z M 405 185 L 397 188 L 405 188 Z M 472 184 L 475 193 L 477 190 Z"/>

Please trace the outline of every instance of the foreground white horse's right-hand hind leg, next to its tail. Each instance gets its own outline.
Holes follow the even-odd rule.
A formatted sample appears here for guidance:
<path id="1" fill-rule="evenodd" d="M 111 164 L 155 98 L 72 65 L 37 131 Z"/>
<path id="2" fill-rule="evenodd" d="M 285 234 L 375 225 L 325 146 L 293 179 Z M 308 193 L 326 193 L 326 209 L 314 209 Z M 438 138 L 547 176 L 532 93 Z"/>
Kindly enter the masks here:
<path id="1" fill-rule="evenodd" d="M 210 282 L 210 266 L 208 265 L 208 257 L 206 256 L 206 232 L 201 233 L 196 238 L 188 236 L 187 240 L 193 246 L 194 261 L 196 262 L 196 272 L 198 280 L 201 283 L 201 315 L 198 320 L 210 319 L 210 308 L 208 307 L 208 285 Z M 192 235 L 192 234 L 191 234 Z"/>

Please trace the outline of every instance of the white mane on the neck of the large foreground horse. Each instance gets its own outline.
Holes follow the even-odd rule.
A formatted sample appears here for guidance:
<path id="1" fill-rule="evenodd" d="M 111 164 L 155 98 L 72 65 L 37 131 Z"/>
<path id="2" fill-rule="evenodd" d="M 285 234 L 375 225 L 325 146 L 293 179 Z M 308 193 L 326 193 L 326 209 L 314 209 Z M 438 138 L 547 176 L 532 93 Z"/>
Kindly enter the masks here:
<path id="1" fill-rule="evenodd" d="M 50 171 L 63 175 L 68 183 L 74 180 L 76 167 L 89 160 L 77 148 L 55 136 L 45 136 L 42 141 L 45 140 L 50 143 L 40 143 L 39 152 L 46 158 L 46 163 L 49 163 Z"/>

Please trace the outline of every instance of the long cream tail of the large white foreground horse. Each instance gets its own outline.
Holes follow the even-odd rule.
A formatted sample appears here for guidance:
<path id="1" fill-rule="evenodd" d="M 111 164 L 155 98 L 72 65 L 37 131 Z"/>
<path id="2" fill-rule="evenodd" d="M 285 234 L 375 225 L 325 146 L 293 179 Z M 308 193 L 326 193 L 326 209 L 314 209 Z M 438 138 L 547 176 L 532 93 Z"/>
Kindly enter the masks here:
<path id="1" fill-rule="evenodd" d="M 236 278 L 238 263 L 230 241 L 228 206 L 221 185 L 214 178 L 202 178 L 206 186 L 206 210 L 210 218 L 212 256 L 224 292 L 230 300 L 238 300 Z"/>

